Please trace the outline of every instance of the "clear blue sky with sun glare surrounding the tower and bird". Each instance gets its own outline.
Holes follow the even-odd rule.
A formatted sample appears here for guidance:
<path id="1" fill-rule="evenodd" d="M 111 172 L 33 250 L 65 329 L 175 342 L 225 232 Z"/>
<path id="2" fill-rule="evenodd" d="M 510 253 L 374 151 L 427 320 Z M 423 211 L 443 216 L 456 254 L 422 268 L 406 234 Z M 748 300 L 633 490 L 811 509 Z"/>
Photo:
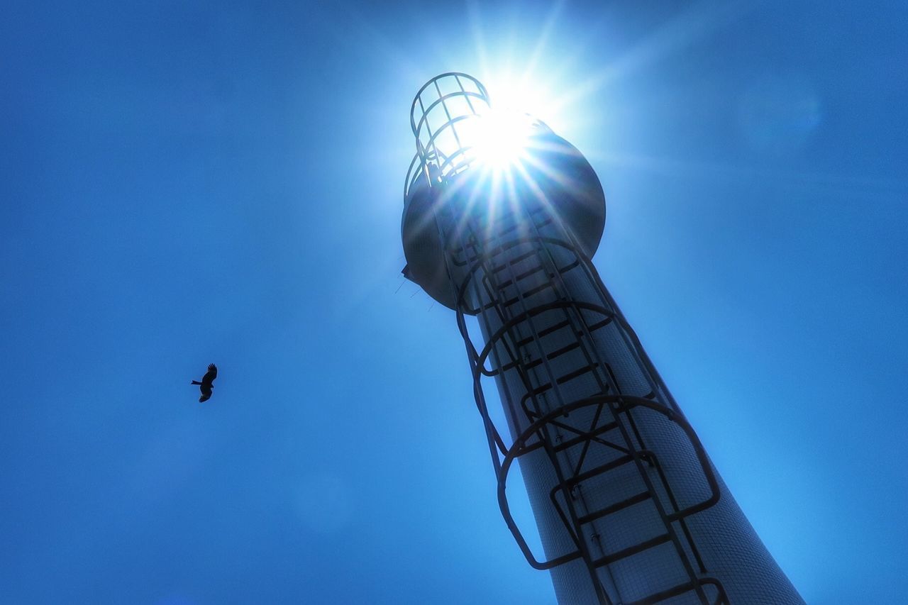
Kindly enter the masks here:
<path id="1" fill-rule="evenodd" d="M 903 3 L 4 13 L 0 601 L 553 602 L 401 285 L 449 70 L 587 154 L 597 267 L 804 598 L 908 589 Z"/>

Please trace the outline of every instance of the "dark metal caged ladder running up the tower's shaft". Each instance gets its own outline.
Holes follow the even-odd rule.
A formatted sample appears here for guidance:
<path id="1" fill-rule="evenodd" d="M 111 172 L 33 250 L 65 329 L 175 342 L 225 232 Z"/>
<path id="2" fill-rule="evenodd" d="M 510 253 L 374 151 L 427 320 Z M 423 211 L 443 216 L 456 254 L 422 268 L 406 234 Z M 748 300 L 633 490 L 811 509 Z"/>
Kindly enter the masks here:
<path id="1" fill-rule="evenodd" d="M 633 603 L 658 602 L 686 592 L 696 593 L 698 600 L 703 603 L 726 603 L 721 582 L 707 574 L 685 522 L 686 517 L 706 510 L 719 499 L 716 478 L 696 433 L 681 414 L 656 401 L 656 393 L 659 391 L 656 384 L 652 385 L 651 391 L 644 397 L 627 395 L 621 391 L 615 373 L 597 352 L 593 334 L 623 318 L 613 310 L 606 295 L 600 296 L 601 304 L 579 302 L 570 298 L 564 281 L 564 275 L 569 272 L 585 272 L 596 285 L 597 292 L 602 294 L 605 289 L 598 281 L 591 263 L 569 240 L 569 233 L 568 238 L 553 238 L 542 234 L 542 229 L 557 223 L 557 219 L 544 212 L 541 206 L 528 211 L 528 216 L 524 218 L 522 224 L 530 225 L 529 228 L 521 226 L 521 221 L 515 220 L 486 240 L 478 236 L 482 232 L 481 225 L 475 219 L 470 219 L 469 228 L 457 233 L 459 241 L 449 242 L 456 245 L 449 245 L 447 254 L 449 272 L 452 275 L 458 270 L 467 273 L 467 278 L 456 293 L 458 324 L 467 344 L 474 376 L 474 394 L 489 438 L 489 448 L 498 477 L 499 506 L 508 528 L 529 563 L 537 569 L 547 570 L 568 561 L 584 560 L 601 602 L 611 603 L 613 600 L 610 600 L 600 581 L 599 570 L 610 574 L 609 566 L 617 561 L 667 543 L 675 550 L 681 567 L 685 570 L 686 581 L 648 594 Z M 451 219 L 453 217 L 449 217 Z M 509 239 L 503 241 L 505 237 Z M 489 247 L 490 243 L 495 245 Z M 512 249 L 518 246 L 528 250 L 512 253 Z M 568 251 L 571 261 L 558 265 L 550 246 Z M 529 266 L 518 273 L 516 267 L 526 264 Z M 476 275 L 480 271 L 481 278 L 477 280 Z M 521 284 L 529 286 L 522 288 Z M 487 302 L 477 309 L 466 311 L 494 314 L 500 324 L 496 332 L 488 335 L 488 342 L 479 352 L 469 338 L 464 319 L 465 307 L 468 306 L 468 287 L 473 288 L 476 300 Z M 508 293 L 508 290 L 513 290 L 513 293 Z M 548 293 L 545 302 L 534 304 L 528 301 L 542 293 Z M 540 328 L 537 324 L 541 317 L 553 312 L 560 313 L 561 318 Z M 595 316 L 596 321 L 587 319 L 590 315 Z M 556 332 L 569 333 L 570 337 L 557 350 L 543 351 L 541 339 Z M 564 356 L 579 357 L 580 362 L 568 372 L 555 372 L 554 363 Z M 486 368 L 489 357 L 495 362 L 492 369 Z M 528 428 L 510 447 L 505 445 L 489 419 L 481 384 L 483 376 L 497 376 L 504 372 L 515 372 L 523 383 L 526 394 L 520 398 L 520 407 L 529 423 Z M 564 385 L 578 379 L 586 379 L 587 382 L 592 379 L 597 385 L 597 392 L 579 401 L 569 401 L 563 393 Z M 572 412 L 579 415 L 585 409 L 594 410 L 593 420 L 588 426 L 577 427 L 566 420 Z M 656 453 L 646 447 L 638 430 L 632 413 L 635 409 L 661 414 L 686 433 L 709 485 L 708 498 L 685 508 L 679 507 Z M 584 469 L 585 461 L 591 458 L 589 452 L 594 448 L 606 448 L 616 457 L 593 468 Z M 506 491 L 508 471 L 513 462 L 539 450 L 545 451 L 555 470 L 558 481 L 552 486 L 549 497 L 576 546 L 576 550 L 545 561 L 536 560 L 528 549 L 510 514 Z M 575 461 L 570 461 L 572 455 L 576 458 Z M 589 510 L 583 499 L 584 483 L 622 471 L 628 465 L 629 468 L 636 469 L 642 489 L 600 510 Z M 663 501 L 663 497 L 667 502 Z M 597 522 L 605 521 L 630 507 L 643 505 L 655 509 L 665 531 L 645 541 L 608 550 L 605 543 L 607 536 L 597 531 Z M 596 553 L 592 546 L 595 546 Z M 713 587 L 715 600 L 711 601 L 707 597 L 706 586 Z M 620 596 L 618 599 L 620 600 Z"/>

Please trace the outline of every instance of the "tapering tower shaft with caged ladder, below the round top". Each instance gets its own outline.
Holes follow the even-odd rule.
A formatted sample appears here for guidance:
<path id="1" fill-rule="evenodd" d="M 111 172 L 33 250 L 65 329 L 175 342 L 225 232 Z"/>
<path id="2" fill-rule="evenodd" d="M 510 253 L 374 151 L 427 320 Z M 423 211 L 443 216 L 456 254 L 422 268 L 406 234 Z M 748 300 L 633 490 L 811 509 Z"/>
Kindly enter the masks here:
<path id="1" fill-rule="evenodd" d="M 468 344 L 474 392 L 494 377 L 513 442 L 502 510 L 532 558 L 508 512 L 518 461 L 542 539 L 545 560 L 530 562 L 551 570 L 561 603 L 800 602 L 550 207 L 439 215 L 485 338 Z"/>

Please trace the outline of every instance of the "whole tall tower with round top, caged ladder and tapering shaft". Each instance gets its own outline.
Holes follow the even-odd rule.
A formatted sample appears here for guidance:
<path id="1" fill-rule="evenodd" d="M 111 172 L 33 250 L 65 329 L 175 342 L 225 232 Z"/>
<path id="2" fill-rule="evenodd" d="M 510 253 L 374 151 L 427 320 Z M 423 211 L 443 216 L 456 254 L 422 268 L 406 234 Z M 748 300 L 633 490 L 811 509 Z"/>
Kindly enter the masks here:
<path id="1" fill-rule="evenodd" d="M 502 515 L 558 602 L 802 603 L 590 260 L 606 205 L 586 158 L 467 74 L 422 86 L 410 123 L 404 274 L 456 312 Z M 543 553 L 510 512 L 515 466 Z"/>

